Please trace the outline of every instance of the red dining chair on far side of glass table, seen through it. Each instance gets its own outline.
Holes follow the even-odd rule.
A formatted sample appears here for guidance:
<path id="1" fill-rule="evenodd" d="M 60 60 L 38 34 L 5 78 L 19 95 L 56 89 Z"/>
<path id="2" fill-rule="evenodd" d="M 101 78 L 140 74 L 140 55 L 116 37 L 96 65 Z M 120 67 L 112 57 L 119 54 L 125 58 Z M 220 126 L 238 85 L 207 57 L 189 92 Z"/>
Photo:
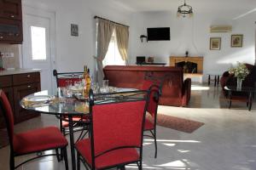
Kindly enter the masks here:
<path id="1" fill-rule="evenodd" d="M 67 86 L 67 81 L 78 82 L 81 81 L 84 72 L 57 72 L 56 70 L 53 71 L 53 75 L 56 77 L 56 84 L 57 88 L 64 88 Z M 67 135 L 69 130 L 69 122 L 67 117 L 58 117 L 60 122 L 60 129 L 64 135 Z M 87 116 L 73 116 L 73 127 L 74 132 L 82 131 L 79 135 L 79 139 L 83 138 L 88 130 L 88 126 L 90 121 Z M 85 133 L 84 133 L 85 132 Z M 83 134 L 84 133 L 84 134 Z"/>

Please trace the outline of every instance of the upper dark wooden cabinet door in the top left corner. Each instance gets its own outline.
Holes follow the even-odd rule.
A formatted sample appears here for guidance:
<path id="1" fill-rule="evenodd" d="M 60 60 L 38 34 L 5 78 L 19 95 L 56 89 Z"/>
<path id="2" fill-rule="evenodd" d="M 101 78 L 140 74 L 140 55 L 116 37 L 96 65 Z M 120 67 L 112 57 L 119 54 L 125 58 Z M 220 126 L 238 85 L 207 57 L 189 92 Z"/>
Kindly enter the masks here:
<path id="1" fill-rule="evenodd" d="M 21 0 L 0 0 L 0 17 L 11 20 L 22 20 Z"/>

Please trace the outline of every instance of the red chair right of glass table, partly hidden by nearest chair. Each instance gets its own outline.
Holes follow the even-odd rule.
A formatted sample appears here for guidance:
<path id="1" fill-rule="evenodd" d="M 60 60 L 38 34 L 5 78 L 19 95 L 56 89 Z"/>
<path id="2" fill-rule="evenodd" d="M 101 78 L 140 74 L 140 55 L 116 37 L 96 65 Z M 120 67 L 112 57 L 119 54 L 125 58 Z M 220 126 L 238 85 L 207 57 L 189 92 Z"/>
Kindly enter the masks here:
<path id="1" fill-rule="evenodd" d="M 156 118 L 157 118 L 157 109 L 160 98 L 160 89 L 157 85 L 152 85 L 149 88 L 149 101 L 147 108 L 147 115 L 145 119 L 144 132 L 150 132 L 150 134 L 145 134 L 154 139 L 154 158 L 157 156 L 157 143 L 156 143 Z"/>

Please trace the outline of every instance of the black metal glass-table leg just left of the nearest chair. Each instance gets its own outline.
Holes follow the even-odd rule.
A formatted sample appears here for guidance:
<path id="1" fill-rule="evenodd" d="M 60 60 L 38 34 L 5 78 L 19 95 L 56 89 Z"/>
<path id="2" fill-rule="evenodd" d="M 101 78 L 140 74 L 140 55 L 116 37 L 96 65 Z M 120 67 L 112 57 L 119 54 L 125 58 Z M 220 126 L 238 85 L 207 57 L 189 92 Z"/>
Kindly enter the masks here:
<path id="1" fill-rule="evenodd" d="M 73 116 L 68 116 L 68 127 L 69 127 L 72 169 L 76 170 L 76 156 L 75 156 L 74 140 L 73 140 Z"/>

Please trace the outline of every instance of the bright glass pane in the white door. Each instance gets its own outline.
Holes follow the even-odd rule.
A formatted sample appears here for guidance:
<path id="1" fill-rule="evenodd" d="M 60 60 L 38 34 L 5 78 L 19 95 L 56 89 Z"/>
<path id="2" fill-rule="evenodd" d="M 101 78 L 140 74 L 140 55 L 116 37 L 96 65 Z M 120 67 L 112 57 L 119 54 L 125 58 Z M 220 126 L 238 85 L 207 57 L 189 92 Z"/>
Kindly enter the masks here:
<path id="1" fill-rule="evenodd" d="M 45 28 L 31 26 L 32 59 L 46 59 Z"/>

